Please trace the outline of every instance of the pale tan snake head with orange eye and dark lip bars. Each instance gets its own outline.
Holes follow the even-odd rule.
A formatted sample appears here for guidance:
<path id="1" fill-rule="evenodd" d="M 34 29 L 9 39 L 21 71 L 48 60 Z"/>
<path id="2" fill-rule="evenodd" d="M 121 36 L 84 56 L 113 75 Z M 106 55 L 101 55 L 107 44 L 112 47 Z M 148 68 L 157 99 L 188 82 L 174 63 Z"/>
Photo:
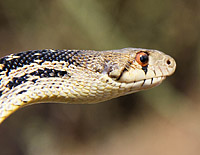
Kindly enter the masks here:
<path id="1" fill-rule="evenodd" d="M 117 82 L 141 84 L 145 89 L 160 84 L 176 69 L 175 60 L 158 50 L 126 48 L 123 52 L 129 58 L 123 58 L 108 73 Z"/>

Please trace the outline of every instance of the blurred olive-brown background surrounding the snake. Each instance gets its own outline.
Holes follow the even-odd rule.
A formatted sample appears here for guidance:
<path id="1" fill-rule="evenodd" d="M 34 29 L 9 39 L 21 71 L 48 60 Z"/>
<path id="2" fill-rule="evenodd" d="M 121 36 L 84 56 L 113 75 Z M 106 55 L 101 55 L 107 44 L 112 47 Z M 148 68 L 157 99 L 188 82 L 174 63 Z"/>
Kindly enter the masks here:
<path id="1" fill-rule="evenodd" d="M 0 126 L 0 154 L 200 154 L 200 1 L 0 1 L 1 57 L 125 47 L 164 51 L 177 70 L 154 89 L 101 104 L 22 108 Z"/>

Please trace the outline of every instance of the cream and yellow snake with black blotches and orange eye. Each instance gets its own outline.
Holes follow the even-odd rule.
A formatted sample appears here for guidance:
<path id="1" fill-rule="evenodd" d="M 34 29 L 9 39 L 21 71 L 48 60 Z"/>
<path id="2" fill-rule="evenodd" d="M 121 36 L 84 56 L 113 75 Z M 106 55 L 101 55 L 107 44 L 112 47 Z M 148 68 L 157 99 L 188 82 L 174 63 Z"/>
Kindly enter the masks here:
<path id="1" fill-rule="evenodd" d="M 174 73 L 159 50 L 29 50 L 0 59 L 0 123 L 37 103 L 91 104 L 146 90 Z"/>

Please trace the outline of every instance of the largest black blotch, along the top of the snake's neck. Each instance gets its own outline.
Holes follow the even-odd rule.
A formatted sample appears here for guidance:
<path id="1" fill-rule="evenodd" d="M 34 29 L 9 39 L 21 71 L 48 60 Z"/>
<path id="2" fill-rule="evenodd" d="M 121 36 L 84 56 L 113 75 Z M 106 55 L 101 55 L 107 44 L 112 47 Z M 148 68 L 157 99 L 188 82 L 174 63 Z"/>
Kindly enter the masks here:
<path id="1" fill-rule="evenodd" d="M 17 54 L 13 54 L 13 56 L 18 56 L 18 58 L 12 58 L 11 60 L 9 56 L 3 57 L 0 59 L 0 64 L 3 64 L 2 71 L 6 71 L 6 75 L 9 75 L 9 72 L 12 69 L 16 69 L 18 67 L 23 67 L 24 65 L 30 65 L 35 60 L 41 60 L 40 65 L 45 61 L 66 61 L 70 64 L 74 64 L 79 66 L 76 60 L 73 59 L 73 56 L 77 55 L 80 51 L 68 51 L 68 50 L 55 50 L 52 52 L 51 50 L 34 50 L 34 51 L 26 51 L 20 52 Z"/>

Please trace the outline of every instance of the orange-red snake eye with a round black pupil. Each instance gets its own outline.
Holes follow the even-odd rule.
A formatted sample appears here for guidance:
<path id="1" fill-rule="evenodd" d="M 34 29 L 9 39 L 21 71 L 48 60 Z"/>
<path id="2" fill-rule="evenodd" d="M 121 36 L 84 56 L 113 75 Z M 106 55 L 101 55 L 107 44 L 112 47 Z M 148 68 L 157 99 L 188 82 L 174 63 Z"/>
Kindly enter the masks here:
<path id="1" fill-rule="evenodd" d="M 135 60 L 142 66 L 145 67 L 148 65 L 149 54 L 146 52 L 139 52 L 136 54 Z"/>

